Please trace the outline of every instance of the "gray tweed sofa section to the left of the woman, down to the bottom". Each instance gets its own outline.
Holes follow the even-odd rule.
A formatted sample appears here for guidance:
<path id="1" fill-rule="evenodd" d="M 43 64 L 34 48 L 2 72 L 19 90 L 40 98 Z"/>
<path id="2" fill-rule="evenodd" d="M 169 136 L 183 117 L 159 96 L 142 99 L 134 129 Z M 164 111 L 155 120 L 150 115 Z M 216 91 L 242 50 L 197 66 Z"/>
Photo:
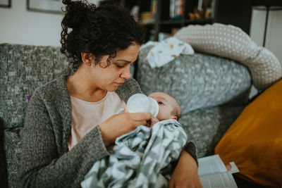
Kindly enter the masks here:
<path id="1" fill-rule="evenodd" d="M 18 187 L 20 130 L 35 89 L 69 72 L 59 47 L 0 44 L 0 184 Z"/>

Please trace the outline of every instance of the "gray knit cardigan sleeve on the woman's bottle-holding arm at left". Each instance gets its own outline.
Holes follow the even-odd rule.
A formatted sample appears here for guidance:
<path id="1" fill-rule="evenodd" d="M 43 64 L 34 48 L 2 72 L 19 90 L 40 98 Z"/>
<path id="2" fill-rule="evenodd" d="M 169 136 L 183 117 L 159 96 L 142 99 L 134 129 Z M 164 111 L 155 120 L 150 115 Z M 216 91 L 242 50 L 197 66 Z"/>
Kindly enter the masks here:
<path id="1" fill-rule="evenodd" d="M 80 187 L 94 162 L 109 154 L 98 126 L 71 151 L 62 153 L 58 144 L 60 133 L 52 120 L 37 92 L 27 108 L 22 133 L 21 187 Z"/>

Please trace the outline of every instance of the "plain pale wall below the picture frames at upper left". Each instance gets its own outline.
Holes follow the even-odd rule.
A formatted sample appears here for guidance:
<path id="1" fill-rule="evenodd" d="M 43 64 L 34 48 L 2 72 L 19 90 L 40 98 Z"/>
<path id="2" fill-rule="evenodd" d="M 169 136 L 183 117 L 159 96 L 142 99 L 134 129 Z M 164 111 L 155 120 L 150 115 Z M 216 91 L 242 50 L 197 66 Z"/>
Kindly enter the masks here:
<path id="1" fill-rule="evenodd" d="M 26 0 L 0 7 L 0 43 L 60 46 L 62 14 L 27 11 Z"/>

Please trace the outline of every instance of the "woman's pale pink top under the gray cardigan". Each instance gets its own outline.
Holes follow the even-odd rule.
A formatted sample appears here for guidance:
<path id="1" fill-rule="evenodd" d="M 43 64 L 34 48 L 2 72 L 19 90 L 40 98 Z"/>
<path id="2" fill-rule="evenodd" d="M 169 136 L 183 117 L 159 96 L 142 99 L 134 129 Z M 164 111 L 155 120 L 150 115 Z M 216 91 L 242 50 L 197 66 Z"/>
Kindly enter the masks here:
<path id="1" fill-rule="evenodd" d="M 118 113 L 124 104 L 116 92 L 107 92 L 106 96 L 97 102 L 83 101 L 71 96 L 72 122 L 68 149 L 71 150 L 95 126 Z"/>

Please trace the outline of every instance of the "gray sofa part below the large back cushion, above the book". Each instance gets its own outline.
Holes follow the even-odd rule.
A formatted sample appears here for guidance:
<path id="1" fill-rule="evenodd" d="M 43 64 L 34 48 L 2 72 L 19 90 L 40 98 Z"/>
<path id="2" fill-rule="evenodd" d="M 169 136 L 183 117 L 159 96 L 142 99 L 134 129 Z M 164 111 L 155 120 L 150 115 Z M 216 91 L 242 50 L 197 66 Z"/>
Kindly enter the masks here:
<path id="1" fill-rule="evenodd" d="M 244 106 L 216 106 L 181 116 L 179 122 L 183 125 L 188 138 L 196 144 L 198 157 L 214 154 L 214 147 L 243 111 Z"/>

